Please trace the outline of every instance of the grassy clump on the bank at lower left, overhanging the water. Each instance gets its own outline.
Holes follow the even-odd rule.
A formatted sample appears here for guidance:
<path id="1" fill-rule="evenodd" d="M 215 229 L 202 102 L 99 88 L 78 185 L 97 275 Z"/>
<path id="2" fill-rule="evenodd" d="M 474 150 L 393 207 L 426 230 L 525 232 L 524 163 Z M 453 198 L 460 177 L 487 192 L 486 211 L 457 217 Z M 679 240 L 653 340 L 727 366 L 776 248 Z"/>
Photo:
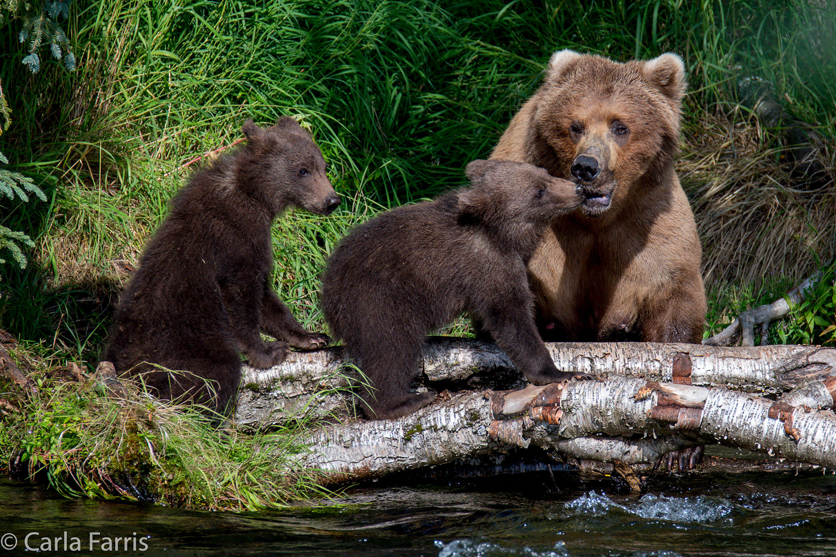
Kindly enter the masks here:
<path id="1" fill-rule="evenodd" d="M 317 473 L 294 459 L 306 453 L 305 413 L 270 433 L 219 432 L 192 405 L 160 403 L 125 382 L 124 397 L 103 383 L 33 374 L 38 392 L 2 420 L 0 453 L 18 479 L 40 479 L 68 497 L 123 499 L 183 509 L 257 510 L 329 496 Z M 4 409 L 8 409 L 4 408 Z"/>

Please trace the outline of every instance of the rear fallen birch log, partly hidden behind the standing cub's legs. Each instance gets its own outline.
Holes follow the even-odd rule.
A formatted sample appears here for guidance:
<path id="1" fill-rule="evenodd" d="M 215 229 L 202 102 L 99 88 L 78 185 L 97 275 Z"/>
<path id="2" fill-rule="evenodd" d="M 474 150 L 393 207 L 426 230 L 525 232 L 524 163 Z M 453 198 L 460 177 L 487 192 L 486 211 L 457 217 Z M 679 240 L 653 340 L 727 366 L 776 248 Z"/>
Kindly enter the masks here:
<path id="1" fill-rule="evenodd" d="M 836 349 L 808 346 L 709 347 L 645 342 L 548 343 L 561 371 L 595 377 L 643 377 L 780 395 L 836 367 Z M 258 428 L 283 423 L 308 408 L 320 416 L 353 412 L 347 395 L 357 374 L 341 347 L 292 352 L 267 370 L 244 368 L 236 422 Z M 433 337 L 424 348 L 419 382 L 444 390 L 507 390 L 526 383 L 504 352 L 473 339 Z"/>

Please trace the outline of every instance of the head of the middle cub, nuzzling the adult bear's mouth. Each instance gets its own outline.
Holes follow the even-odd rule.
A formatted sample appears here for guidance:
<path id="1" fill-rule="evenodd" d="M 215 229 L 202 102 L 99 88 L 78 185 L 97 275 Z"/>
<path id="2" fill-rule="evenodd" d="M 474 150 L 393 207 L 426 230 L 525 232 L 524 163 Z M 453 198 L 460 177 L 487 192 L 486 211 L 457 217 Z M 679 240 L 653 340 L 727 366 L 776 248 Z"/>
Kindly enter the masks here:
<path id="1" fill-rule="evenodd" d="M 502 235 L 539 234 L 583 200 L 577 185 L 528 163 L 474 160 L 466 173 L 472 187 L 459 194 L 461 216 Z"/>

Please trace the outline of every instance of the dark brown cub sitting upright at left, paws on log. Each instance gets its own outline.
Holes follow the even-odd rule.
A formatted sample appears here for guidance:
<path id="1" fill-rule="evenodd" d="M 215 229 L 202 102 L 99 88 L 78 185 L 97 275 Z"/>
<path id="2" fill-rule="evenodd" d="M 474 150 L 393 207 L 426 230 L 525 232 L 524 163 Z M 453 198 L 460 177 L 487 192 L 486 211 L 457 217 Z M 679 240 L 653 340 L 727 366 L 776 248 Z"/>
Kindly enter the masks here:
<path id="1" fill-rule="evenodd" d="M 142 376 L 166 399 L 191 398 L 226 413 L 253 367 L 284 360 L 288 345 L 322 347 L 270 287 L 270 227 L 288 205 L 327 215 L 339 205 L 314 140 L 285 117 L 247 120 L 247 144 L 191 177 L 145 246 L 125 288 L 104 359 Z M 278 339 L 263 342 L 260 332 Z M 155 366 L 177 370 L 160 371 Z"/>

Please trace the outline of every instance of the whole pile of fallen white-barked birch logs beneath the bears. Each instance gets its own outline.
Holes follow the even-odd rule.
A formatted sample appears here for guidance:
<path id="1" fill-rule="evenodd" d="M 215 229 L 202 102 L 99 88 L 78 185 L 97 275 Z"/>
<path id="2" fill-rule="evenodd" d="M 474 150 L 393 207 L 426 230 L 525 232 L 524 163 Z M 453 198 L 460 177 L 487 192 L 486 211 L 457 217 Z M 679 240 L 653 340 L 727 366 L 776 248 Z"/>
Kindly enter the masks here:
<path id="1" fill-rule="evenodd" d="M 665 453 L 708 443 L 836 466 L 836 418 L 827 409 L 836 392 L 834 349 L 547 346 L 558 369 L 599 380 L 520 388 L 522 376 L 491 344 L 435 338 L 419 388 L 440 392 L 439 401 L 405 418 L 368 422 L 351 414 L 352 375 L 339 372 L 344 360 L 335 347 L 294 353 L 270 370 L 246 369 L 236 420 L 268 426 L 305 406 L 336 416 L 312 434 L 314 452 L 299 457 L 332 482 L 513 447 L 652 468 Z"/>

